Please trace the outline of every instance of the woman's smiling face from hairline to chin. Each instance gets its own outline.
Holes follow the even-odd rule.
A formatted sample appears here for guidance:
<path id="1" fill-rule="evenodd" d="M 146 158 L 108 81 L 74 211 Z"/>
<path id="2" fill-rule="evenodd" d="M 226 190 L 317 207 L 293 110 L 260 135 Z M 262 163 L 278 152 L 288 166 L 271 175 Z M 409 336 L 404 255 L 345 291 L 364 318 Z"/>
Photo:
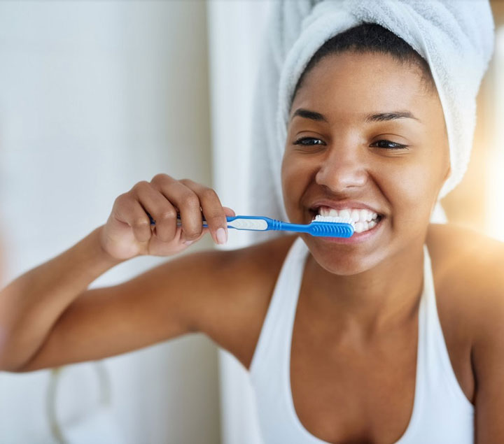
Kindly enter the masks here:
<path id="1" fill-rule="evenodd" d="M 304 76 L 281 169 L 288 217 L 307 224 L 320 213 L 347 215 L 340 213 L 345 209 L 359 220 L 374 217 L 346 243 L 304 236 L 326 270 L 360 273 L 423 245 L 449 173 L 444 115 L 433 89 L 418 66 L 384 54 L 330 55 Z"/>

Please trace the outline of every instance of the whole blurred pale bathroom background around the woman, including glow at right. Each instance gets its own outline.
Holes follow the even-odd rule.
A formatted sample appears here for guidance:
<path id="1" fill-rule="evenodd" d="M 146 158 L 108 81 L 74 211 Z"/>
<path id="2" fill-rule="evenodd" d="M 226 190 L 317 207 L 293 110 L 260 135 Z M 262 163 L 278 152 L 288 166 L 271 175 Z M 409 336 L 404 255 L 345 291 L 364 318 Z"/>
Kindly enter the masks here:
<path id="1" fill-rule="evenodd" d="M 274 0 L 273 0 L 274 1 Z M 270 1 L 0 1 L 3 284 L 103 224 L 165 172 L 246 213 L 248 135 Z M 504 3 L 475 149 L 442 203 L 504 241 Z M 249 238 L 230 233 L 228 248 Z M 212 248 L 198 243 L 195 248 Z M 92 286 L 165 259 L 137 258 Z M 202 335 L 96 363 L 0 373 L 1 443 L 260 444 L 246 371 Z"/>

